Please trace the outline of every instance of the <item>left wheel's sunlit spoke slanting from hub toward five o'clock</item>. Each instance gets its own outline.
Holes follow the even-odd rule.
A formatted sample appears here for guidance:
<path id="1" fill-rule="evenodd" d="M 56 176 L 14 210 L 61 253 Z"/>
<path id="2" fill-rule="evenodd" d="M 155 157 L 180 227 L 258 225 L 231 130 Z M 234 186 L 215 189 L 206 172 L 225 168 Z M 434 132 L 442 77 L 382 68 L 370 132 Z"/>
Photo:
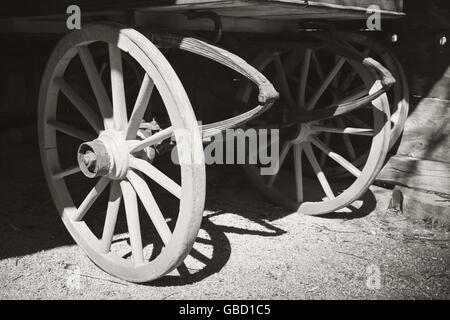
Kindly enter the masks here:
<path id="1" fill-rule="evenodd" d="M 147 183 L 145 183 L 144 179 L 142 179 L 139 175 L 137 175 L 133 171 L 129 171 L 127 174 L 127 178 L 133 185 L 134 190 L 138 194 L 141 199 L 142 204 L 145 207 L 150 219 L 153 222 L 156 230 L 158 231 L 159 236 L 161 237 L 163 243 L 167 245 L 172 237 L 172 232 L 167 225 L 166 220 L 156 203 L 155 198 L 153 197 L 152 192 L 148 188 Z"/>

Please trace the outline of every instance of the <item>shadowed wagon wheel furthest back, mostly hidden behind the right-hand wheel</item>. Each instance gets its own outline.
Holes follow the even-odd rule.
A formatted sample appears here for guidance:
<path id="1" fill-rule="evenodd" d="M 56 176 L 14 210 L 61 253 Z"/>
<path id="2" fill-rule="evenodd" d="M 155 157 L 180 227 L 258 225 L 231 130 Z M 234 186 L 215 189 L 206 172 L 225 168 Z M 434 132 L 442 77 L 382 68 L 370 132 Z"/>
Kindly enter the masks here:
<path id="1" fill-rule="evenodd" d="M 391 149 L 398 141 L 401 133 L 403 132 L 409 110 L 409 89 L 403 68 L 397 58 L 392 54 L 392 52 L 390 52 L 386 47 L 365 34 L 357 32 L 337 32 L 336 36 L 352 45 L 363 55 L 373 57 L 377 61 L 380 61 L 397 80 L 392 89 L 387 94 L 391 113 L 391 136 L 389 140 L 389 149 Z M 295 58 L 295 54 L 297 54 L 297 58 Z M 283 68 L 285 69 L 284 72 L 290 77 L 288 81 L 292 81 L 292 78 L 296 76 L 292 73 L 296 66 L 298 66 L 298 61 L 302 59 L 302 55 L 302 51 L 293 51 L 289 58 L 286 57 L 287 61 L 282 64 Z M 338 58 L 339 57 L 336 56 L 336 59 Z M 324 72 L 320 66 L 318 57 L 313 54 L 311 59 L 311 68 L 316 69 L 314 70 L 314 72 L 317 72 L 319 77 L 321 76 L 323 79 Z M 258 69 L 263 70 L 272 63 L 272 60 L 273 58 L 270 55 L 267 55 L 266 52 L 263 52 L 259 54 L 258 57 L 256 57 L 254 65 Z M 355 70 L 350 69 L 346 70 L 346 72 L 347 73 L 340 71 L 339 73 L 337 73 L 336 77 L 330 84 L 329 90 L 333 90 L 335 92 L 335 101 L 339 100 L 339 96 L 345 96 L 346 92 L 352 92 L 352 90 L 357 89 L 355 88 L 355 83 L 352 83 L 355 77 L 357 77 Z M 308 81 L 308 79 L 306 79 L 306 81 Z M 320 85 L 320 83 L 317 85 Z M 307 82 L 306 86 L 311 86 L 311 84 Z M 243 95 L 245 95 L 245 92 L 247 92 L 248 90 L 248 83 L 246 83 L 245 86 L 240 88 L 238 99 L 245 100 L 246 97 Z M 355 96 L 355 98 L 357 98 L 357 96 Z M 350 127 L 364 127 L 368 125 L 367 123 L 365 123 L 363 117 L 361 117 L 361 115 L 357 113 L 349 114 L 346 117 L 342 117 L 342 119 L 337 119 L 337 121 L 329 120 L 328 124 L 340 127 L 342 127 L 344 124 Z M 326 144 L 328 144 L 329 139 L 330 133 L 326 133 L 324 135 Z M 354 164 L 358 168 L 361 168 L 361 166 L 364 165 L 364 163 L 367 161 L 369 149 L 367 149 L 365 152 L 356 152 L 352 144 L 352 139 L 352 136 L 342 135 L 340 138 L 340 143 L 343 143 L 346 146 L 346 152 L 348 153 L 349 160 L 352 162 L 352 164 Z M 326 172 L 329 177 L 348 176 L 348 172 L 346 170 L 344 170 L 341 166 L 334 166 L 332 161 L 330 162 L 330 159 L 327 159 L 323 155 L 321 157 L 321 164 L 323 166 L 324 172 Z"/>

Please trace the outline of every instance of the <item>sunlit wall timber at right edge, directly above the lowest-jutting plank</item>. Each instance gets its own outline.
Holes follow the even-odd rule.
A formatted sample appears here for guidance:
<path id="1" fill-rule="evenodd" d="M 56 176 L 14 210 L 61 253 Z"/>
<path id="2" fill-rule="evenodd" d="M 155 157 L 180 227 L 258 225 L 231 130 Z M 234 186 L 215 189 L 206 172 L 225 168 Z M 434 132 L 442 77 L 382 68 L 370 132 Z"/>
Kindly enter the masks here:
<path id="1" fill-rule="evenodd" d="M 450 101 L 414 99 L 398 154 L 450 163 Z"/>

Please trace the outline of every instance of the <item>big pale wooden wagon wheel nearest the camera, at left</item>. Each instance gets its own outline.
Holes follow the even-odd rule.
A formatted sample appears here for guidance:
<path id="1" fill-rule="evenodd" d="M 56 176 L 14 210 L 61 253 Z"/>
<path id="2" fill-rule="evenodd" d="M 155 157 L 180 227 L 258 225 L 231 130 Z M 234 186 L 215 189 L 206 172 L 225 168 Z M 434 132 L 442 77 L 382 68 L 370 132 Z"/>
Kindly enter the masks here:
<path id="1" fill-rule="evenodd" d="M 103 46 L 109 54 L 111 92 L 92 57 L 94 46 Z M 145 74 L 135 103 L 128 108 L 124 55 L 134 59 Z M 81 93 L 67 81 L 77 68 L 84 69 L 91 92 Z M 89 95 L 97 106 L 87 103 Z M 164 129 L 147 132 L 142 140 L 138 130 L 150 99 L 160 101 L 159 112 L 165 112 L 170 121 Z M 65 109 L 72 108 L 70 117 L 61 116 L 64 104 Z M 147 38 L 113 24 L 89 25 L 65 36 L 45 69 L 38 129 L 53 201 L 66 228 L 95 264 L 117 277 L 143 282 L 182 263 L 202 219 L 202 143 L 181 82 Z M 184 148 L 179 166 L 155 152 L 170 140 Z M 178 170 L 163 172 L 157 163 Z M 160 208 L 161 199 L 168 199 L 171 209 Z"/>

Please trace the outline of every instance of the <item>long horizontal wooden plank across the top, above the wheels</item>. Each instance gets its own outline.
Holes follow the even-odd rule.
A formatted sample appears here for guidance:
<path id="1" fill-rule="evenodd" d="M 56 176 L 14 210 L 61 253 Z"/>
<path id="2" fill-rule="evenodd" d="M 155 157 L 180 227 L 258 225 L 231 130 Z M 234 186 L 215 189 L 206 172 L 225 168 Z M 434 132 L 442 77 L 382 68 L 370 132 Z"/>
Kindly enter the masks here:
<path id="1" fill-rule="evenodd" d="M 17 1 L 10 5 L 6 10 L 0 13 L 0 19 L 30 19 L 30 18 L 66 18 L 66 8 L 73 4 L 70 0 L 41 0 L 32 1 L 24 6 Z M 157 12 L 181 12 L 191 10 L 215 10 L 219 8 L 234 8 L 235 13 L 239 13 L 239 7 L 251 5 L 258 8 L 261 5 L 268 5 L 267 10 L 277 7 L 290 7 L 292 10 L 288 16 L 298 14 L 296 11 L 308 11 L 315 8 L 323 8 L 334 11 L 354 11 L 362 13 L 361 17 L 367 15 L 367 8 L 371 5 L 380 7 L 383 16 L 401 16 L 403 9 L 403 0 L 323 0 L 323 1 L 305 1 L 305 0 L 80 0 L 77 5 L 81 8 L 84 15 L 90 14 L 110 14 L 113 12 L 123 12 L 130 10 L 151 10 Z M 266 11 L 271 15 L 272 11 Z M 279 15 L 279 14 L 278 14 Z M 248 17 L 251 17 L 251 12 Z"/>

